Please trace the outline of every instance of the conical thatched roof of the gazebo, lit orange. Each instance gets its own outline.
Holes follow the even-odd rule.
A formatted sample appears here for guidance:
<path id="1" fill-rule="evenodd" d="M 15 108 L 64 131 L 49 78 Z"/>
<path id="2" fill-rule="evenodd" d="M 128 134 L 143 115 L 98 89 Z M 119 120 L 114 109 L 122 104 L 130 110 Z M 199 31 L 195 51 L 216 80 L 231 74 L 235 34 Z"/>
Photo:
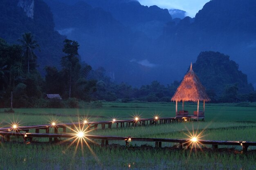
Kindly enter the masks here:
<path id="1" fill-rule="evenodd" d="M 177 88 L 177 91 L 172 97 L 172 101 L 191 101 L 197 102 L 198 99 L 200 101 L 210 101 L 211 99 L 208 97 L 204 86 L 201 84 L 198 76 L 194 73 L 192 69 L 192 63 L 190 66 L 190 70 L 184 76 L 180 86 Z"/>

